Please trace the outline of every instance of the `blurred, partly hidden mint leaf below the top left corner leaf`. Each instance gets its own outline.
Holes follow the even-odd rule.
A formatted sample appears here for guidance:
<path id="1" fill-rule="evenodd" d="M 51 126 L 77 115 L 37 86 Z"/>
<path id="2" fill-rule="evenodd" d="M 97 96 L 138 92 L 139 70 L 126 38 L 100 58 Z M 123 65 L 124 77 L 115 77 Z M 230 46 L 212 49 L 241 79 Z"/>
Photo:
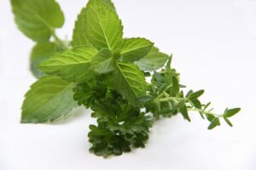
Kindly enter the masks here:
<path id="1" fill-rule="evenodd" d="M 32 48 L 30 55 L 30 70 L 34 77 L 42 77 L 44 73 L 39 71 L 35 66 L 42 62 L 44 59 L 48 59 L 49 55 L 57 50 L 55 43 L 53 42 L 40 42 Z"/>

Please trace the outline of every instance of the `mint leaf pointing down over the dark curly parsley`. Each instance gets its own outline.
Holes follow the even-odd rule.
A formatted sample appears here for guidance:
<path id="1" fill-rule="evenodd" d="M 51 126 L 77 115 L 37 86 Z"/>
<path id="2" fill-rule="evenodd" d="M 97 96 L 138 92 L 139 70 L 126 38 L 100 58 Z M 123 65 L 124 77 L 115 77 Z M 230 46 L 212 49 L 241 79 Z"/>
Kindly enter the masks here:
<path id="1" fill-rule="evenodd" d="M 129 63 L 117 63 L 114 86 L 119 94 L 125 96 L 133 105 L 138 97 L 146 94 L 146 81 L 143 72 L 136 65 Z"/>

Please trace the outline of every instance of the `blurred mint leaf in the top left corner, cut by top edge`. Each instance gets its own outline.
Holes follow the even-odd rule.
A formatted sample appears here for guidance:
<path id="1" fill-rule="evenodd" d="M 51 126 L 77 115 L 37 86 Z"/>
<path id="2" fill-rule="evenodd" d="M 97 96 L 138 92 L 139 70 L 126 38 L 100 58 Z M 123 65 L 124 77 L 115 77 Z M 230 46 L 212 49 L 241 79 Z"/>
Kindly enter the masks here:
<path id="1" fill-rule="evenodd" d="M 55 0 L 11 0 L 11 4 L 20 31 L 36 42 L 48 41 L 51 31 L 64 23 Z"/>

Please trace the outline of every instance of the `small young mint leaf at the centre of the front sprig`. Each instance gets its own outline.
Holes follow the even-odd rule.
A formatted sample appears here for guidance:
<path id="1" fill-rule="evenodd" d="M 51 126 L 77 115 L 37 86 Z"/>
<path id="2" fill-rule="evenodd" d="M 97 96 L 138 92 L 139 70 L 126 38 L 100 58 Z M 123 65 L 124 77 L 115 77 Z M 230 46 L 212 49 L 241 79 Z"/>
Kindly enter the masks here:
<path id="1" fill-rule="evenodd" d="M 98 74 L 105 74 L 113 71 L 113 58 L 112 53 L 108 48 L 103 48 L 96 56 L 91 60 L 90 66 Z"/>

